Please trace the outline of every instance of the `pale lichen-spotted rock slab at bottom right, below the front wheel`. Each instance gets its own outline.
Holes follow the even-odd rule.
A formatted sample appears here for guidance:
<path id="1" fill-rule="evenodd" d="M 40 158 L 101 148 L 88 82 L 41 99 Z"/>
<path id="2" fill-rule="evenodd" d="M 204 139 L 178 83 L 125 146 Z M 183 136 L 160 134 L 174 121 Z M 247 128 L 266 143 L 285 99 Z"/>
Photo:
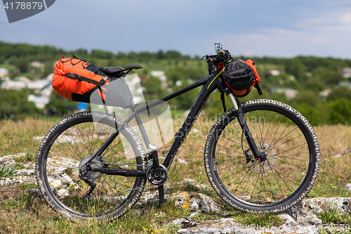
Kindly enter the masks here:
<path id="1" fill-rule="evenodd" d="M 190 197 L 200 197 L 196 193 L 190 193 Z M 210 198 L 211 199 L 211 198 Z M 212 202 L 206 204 L 204 200 L 192 198 L 192 206 L 200 204 L 201 210 L 206 210 L 206 207 L 215 207 Z M 198 201 L 196 201 L 198 200 Z M 201 205 L 202 203 L 202 205 Z M 299 202 L 291 209 L 284 213 L 278 214 L 283 223 L 281 226 L 261 227 L 256 225 L 243 225 L 234 219 L 222 218 L 216 221 L 197 222 L 192 220 L 192 216 L 196 214 L 194 211 L 187 219 L 178 219 L 173 221 L 173 224 L 180 226 L 178 233 L 320 233 L 322 230 L 344 231 L 350 230 L 348 226 L 341 225 L 324 225 L 322 220 L 317 218 L 318 213 L 324 212 L 329 207 L 336 207 L 337 212 L 343 214 L 350 212 L 351 198 L 350 197 L 318 197 L 306 199 Z M 211 209 L 211 208 L 210 208 Z"/>

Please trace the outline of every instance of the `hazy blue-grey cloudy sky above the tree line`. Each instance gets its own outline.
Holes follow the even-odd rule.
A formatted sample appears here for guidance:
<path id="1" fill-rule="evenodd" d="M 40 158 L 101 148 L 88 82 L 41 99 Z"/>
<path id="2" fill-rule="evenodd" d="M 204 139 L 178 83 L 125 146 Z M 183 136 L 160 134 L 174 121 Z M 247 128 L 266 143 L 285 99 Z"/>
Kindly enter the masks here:
<path id="1" fill-rule="evenodd" d="M 351 58 L 351 0 L 57 0 L 8 23 L 0 41 L 121 52 Z"/>

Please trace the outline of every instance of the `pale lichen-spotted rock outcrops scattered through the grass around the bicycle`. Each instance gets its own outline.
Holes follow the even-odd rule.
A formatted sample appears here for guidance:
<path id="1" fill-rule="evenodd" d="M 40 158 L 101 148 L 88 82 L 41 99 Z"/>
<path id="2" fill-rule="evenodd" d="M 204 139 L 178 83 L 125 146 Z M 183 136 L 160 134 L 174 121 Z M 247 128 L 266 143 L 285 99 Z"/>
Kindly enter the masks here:
<path id="1" fill-rule="evenodd" d="M 25 153 L 17 155 L 8 155 L 0 158 L 1 164 L 13 165 L 20 157 L 25 157 Z M 11 186 L 16 188 L 20 183 L 32 183 L 34 179 L 34 162 L 23 162 L 23 168 L 19 169 L 13 178 L 1 178 L 0 186 Z M 192 186 L 204 188 L 204 185 L 196 181 L 186 179 L 183 183 L 190 183 Z M 17 188 L 18 189 L 18 188 Z M 351 189 L 348 184 L 346 189 Z M 31 193 L 39 193 L 38 190 L 29 190 Z M 166 193 L 167 194 L 167 193 Z M 6 190 L 1 189 L 0 200 L 6 197 Z M 338 231 L 349 230 L 350 227 L 341 225 L 322 225 L 322 220 L 316 214 L 336 209 L 339 214 L 351 212 L 351 197 L 317 197 L 305 199 L 279 214 L 282 219 L 281 226 L 261 227 L 255 225 L 243 225 L 232 218 L 221 218 L 216 220 L 198 221 L 194 219 L 199 213 L 220 213 L 221 207 L 213 201 L 211 197 L 201 193 L 178 191 L 173 194 L 167 194 L 166 198 L 174 200 L 176 207 L 179 209 L 188 209 L 191 214 L 186 219 L 176 219 L 169 225 L 178 226 L 178 233 L 320 233 L 322 230 Z M 140 202 L 156 202 L 157 193 L 146 192 L 140 199 Z"/>

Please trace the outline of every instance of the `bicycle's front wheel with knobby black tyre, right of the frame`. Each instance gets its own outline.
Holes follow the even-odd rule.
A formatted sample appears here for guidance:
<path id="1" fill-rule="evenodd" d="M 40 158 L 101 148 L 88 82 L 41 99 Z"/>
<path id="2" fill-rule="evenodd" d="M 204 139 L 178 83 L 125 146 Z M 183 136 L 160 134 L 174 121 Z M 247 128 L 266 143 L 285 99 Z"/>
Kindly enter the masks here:
<path id="1" fill-rule="evenodd" d="M 216 193 L 233 207 L 280 212 L 303 199 L 317 178 L 317 136 L 307 119 L 284 103 L 249 100 L 241 110 L 262 157 L 253 156 L 230 109 L 208 134 L 206 174 Z"/>

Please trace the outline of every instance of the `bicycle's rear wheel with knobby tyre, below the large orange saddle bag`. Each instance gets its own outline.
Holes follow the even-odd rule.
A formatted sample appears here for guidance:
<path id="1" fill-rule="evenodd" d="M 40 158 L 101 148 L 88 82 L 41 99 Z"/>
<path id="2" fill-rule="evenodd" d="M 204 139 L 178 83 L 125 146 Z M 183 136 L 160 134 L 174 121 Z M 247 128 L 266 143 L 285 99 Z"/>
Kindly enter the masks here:
<path id="1" fill-rule="evenodd" d="M 71 218 L 100 221 L 117 218 L 135 204 L 145 177 L 102 174 L 85 165 L 121 124 L 120 119 L 106 113 L 79 112 L 48 131 L 37 155 L 36 174 L 41 194 L 53 209 Z M 145 170 L 144 155 L 140 139 L 126 126 L 90 164 L 141 171 Z"/>

